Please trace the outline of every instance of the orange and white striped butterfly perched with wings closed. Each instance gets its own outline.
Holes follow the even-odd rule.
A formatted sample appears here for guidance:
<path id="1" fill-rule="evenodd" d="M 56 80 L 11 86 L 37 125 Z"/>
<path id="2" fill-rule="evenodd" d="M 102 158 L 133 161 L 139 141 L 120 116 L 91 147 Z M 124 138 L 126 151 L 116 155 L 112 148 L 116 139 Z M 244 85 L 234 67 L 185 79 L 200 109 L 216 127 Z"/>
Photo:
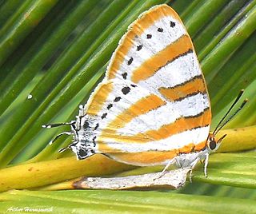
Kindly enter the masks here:
<path id="1" fill-rule="evenodd" d="M 241 97 L 241 95 L 239 95 Z M 80 105 L 70 125 L 78 159 L 101 153 L 139 166 L 208 164 L 226 136 L 210 133 L 206 82 L 178 14 L 154 6 L 130 25 L 111 57 L 106 77 Z M 221 126 L 222 128 L 222 126 Z M 61 152 L 65 149 L 61 149 Z"/>

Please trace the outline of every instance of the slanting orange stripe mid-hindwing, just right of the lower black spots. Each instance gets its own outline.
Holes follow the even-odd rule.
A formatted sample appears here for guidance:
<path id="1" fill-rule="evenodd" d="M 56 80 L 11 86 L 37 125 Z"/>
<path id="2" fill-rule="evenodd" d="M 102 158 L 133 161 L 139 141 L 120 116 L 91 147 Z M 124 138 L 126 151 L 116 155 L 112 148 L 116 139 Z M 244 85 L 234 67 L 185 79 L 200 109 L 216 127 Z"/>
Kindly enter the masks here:
<path id="1" fill-rule="evenodd" d="M 153 109 L 158 109 L 160 106 L 166 105 L 165 101 L 154 94 L 147 97 L 142 97 L 139 101 L 131 105 L 130 108 L 124 110 L 113 121 L 111 121 L 106 129 L 102 130 L 102 137 L 113 135 L 118 129 L 125 127 L 134 117 L 148 113 Z"/>

